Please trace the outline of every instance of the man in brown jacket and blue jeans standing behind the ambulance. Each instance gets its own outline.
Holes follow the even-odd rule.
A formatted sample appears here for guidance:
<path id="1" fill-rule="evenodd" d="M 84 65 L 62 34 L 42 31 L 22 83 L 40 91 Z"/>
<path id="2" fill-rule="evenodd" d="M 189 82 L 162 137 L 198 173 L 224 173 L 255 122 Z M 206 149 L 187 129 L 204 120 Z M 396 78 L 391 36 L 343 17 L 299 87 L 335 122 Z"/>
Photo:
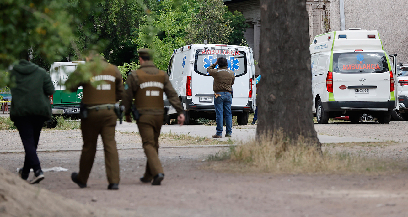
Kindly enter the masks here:
<path id="1" fill-rule="evenodd" d="M 216 69 L 215 66 L 218 68 Z M 231 137 L 232 134 L 232 85 L 234 84 L 234 72 L 228 70 L 228 61 L 224 57 L 220 57 L 217 61 L 207 68 L 207 72 L 214 77 L 214 106 L 215 114 L 217 115 L 217 133 L 213 138 L 222 138 L 222 130 L 224 129 L 223 114 L 225 114 L 225 137 Z"/>

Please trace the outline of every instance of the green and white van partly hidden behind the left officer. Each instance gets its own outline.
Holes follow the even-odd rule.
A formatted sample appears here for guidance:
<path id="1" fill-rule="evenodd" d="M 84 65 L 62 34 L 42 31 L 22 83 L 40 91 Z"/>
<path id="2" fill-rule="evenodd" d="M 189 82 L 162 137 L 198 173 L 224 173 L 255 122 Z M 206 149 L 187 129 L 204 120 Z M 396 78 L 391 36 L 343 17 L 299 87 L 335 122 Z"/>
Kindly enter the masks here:
<path id="1" fill-rule="evenodd" d="M 47 121 L 47 127 L 53 128 L 56 125 L 55 116 L 64 115 L 71 118 L 77 118 L 80 112 L 80 102 L 82 99 L 82 87 L 76 92 L 66 90 L 64 83 L 69 75 L 75 71 L 78 64 L 84 64 L 85 61 L 75 62 L 55 62 L 51 64 L 50 76 L 54 84 L 55 93 L 50 96 L 51 111 L 53 118 Z"/>

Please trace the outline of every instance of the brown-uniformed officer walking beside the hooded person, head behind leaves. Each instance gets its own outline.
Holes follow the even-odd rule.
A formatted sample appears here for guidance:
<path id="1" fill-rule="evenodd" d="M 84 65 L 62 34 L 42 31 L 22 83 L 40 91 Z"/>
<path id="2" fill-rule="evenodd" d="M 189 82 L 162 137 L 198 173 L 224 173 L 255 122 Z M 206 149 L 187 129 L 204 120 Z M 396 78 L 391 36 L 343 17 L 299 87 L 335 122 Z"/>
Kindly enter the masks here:
<path id="1" fill-rule="evenodd" d="M 72 173 L 71 179 L 81 188 L 86 187 L 89 173 L 91 173 L 93 160 L 95 159 L 96 143 L 98 135 L 102 137 L 104 145 L 106 176 L 108 178 L 108 189 L 119 189 L 119 156 L 116 149 L 115 126 L 118 119 L 114 109 L 115 103 L 122 99 L 123 79 L 118 68 L 107 63 L 98 53 L 93 52 L 85 57 L 87 62 L 91 61 L 103 68 L 102 72 L 91 72 L 93 77 L 89 82 L 81 82 L 71 85 L 75 81 L 66 82 L 67 88 L 75 92 L 79 86 L 84 89 L 81 106 L 81 130 L 84 145 L 79 164 L 79 173 Z M 80 74 L 79 71 L 73 72 Z M 99 82 L 96 87 L 91 82 Z"/>

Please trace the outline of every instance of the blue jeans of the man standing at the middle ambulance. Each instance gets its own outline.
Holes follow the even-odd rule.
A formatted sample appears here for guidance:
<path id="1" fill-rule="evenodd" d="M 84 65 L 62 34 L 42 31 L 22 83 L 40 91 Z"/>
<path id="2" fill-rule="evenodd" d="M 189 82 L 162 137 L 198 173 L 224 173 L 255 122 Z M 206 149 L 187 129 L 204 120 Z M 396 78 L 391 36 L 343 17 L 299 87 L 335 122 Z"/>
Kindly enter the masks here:
<path id="1" fill-rule="evenodd" d="M 229 92 L 218 92 L 217 94 L 221 94 L 218 98 L 214 97 L 214 106 L 215 106 L 215 114 L 217 114 L 217 135 L 222 135 L 222 129 L 224 129 L 224 118 L 223 114 L 225 114 L 225 134 L 231 135 L 232 134 L 232 114 L 231 114 L 231 103 L 232 103 L 232 95 Z"/>

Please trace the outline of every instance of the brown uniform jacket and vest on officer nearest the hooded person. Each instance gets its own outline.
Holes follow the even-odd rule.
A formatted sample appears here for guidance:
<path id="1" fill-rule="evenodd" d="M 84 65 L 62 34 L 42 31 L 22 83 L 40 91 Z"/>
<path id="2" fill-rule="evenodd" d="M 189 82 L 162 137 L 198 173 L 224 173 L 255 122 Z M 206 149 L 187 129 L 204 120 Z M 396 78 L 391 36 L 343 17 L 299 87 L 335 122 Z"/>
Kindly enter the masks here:
<path id="1" fill-rule="evenodd" d="M 82 102 L 85 105 L 102 105 L 102 104 L 115 104 L 123 98 L 123 78 L 118 68 L 112 64 L 102 61 L 102 64 L 106 64 L 106 67 L 102 72 L 93 72 L 88 83 L 79 83 L 78 85 L 71 86 L 69 89 L 71 92 L 75 92 L 80 86 L 84 89 L 84 95 Z M 79 73 L 75 71 L 73 73 Z M 94 87 L 92 81 L 103 81 Z"/>

